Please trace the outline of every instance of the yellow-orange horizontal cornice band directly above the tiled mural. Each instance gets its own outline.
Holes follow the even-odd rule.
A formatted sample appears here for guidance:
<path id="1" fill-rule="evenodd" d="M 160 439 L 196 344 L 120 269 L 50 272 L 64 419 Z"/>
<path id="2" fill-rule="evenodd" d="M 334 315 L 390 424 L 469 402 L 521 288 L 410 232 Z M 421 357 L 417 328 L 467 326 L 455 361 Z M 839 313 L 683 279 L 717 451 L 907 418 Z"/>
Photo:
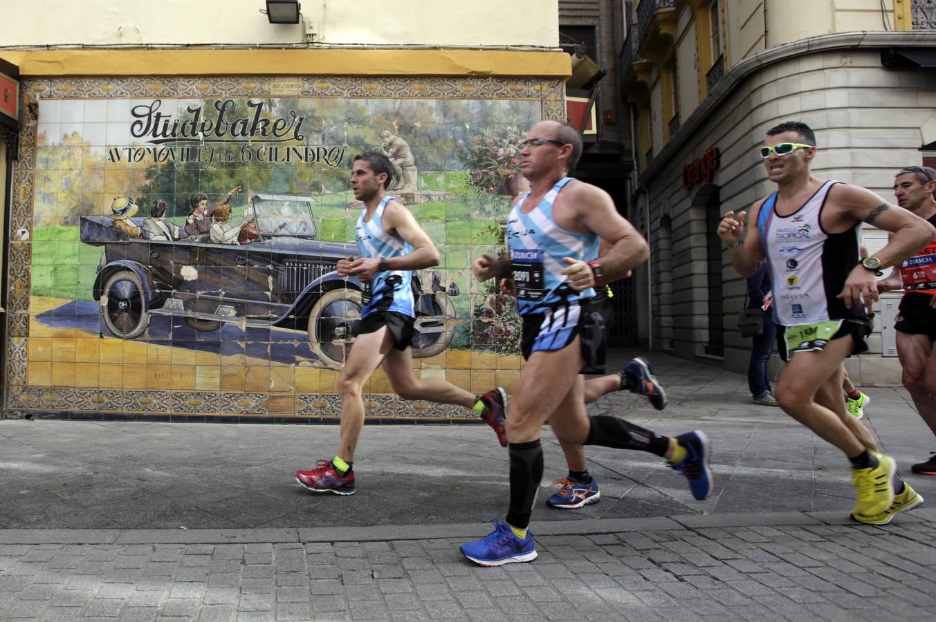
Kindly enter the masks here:
<path id="1" fill-rule="evenodd" d="M 490 50 L 42 50 L 0 51 L 23 78 L 124 76 L 572 75 L 563 51 Z"/>

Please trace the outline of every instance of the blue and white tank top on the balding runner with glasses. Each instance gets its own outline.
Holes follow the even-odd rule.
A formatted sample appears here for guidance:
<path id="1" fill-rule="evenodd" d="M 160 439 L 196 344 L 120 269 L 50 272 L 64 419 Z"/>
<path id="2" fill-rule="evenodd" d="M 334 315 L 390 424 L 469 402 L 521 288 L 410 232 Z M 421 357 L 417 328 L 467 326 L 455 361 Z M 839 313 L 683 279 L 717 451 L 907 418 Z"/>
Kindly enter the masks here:
<path id="1" fill-rule="evenodd" d="M 555 223 L 552 206 L 566 183 L 574 178 L 565 177 L 543 197 L 528 214 L 520 206 L 530 195 L 520 197 L 507 217 L 507 250 L 517 293 L 520 315 L 541 313 L 563 303 L 578 303 L 594 296 L 589 288 L 576 292 L 565 284 L 567 277 L 560 274 L 566 268 L 563 257 L 591 261 L 598 256 L 598 236 L 566 231 Z"/>

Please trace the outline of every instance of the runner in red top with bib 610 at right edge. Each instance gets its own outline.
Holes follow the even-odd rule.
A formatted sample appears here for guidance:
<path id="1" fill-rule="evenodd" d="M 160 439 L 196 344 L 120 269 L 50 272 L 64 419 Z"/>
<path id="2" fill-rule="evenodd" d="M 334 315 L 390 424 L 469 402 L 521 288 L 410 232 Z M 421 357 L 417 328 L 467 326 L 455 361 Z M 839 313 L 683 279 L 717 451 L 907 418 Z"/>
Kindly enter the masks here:
<path id="1" fill-rule="evenodd" d="M 894 179 L 894 195 L 904 210 L 936 225 L 936 169 L 908 166 Z M 888 239 L 889 241 L 889 239 Z M 878 291 L 903 289 L 897 323 L 897 354 L 902 383 L 914 399 L 916 412 L 936 435 L 936 239 L 900 269 L 878 282 Z M 914 473 L 936 475 L 936 453 L 914 464 Z"/>

